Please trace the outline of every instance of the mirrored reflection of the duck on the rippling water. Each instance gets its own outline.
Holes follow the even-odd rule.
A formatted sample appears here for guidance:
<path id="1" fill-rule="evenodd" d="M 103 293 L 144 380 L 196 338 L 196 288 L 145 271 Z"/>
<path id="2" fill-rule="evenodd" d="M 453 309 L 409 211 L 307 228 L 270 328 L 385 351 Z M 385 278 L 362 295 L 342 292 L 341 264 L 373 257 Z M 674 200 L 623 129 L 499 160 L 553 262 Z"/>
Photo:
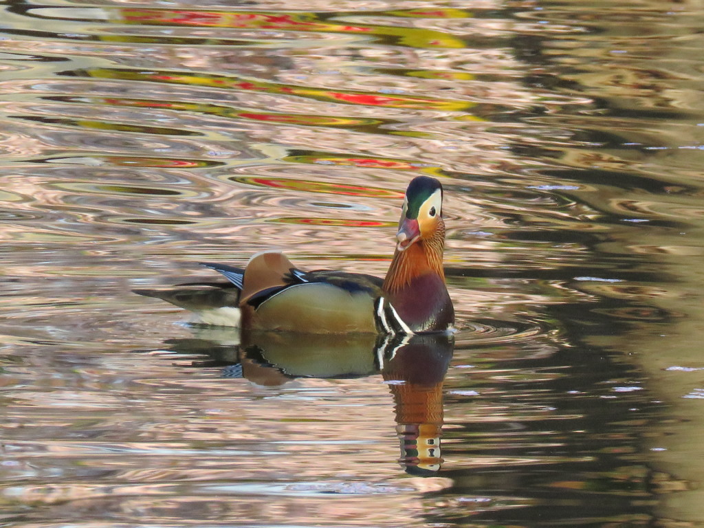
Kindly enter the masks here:
<path id="1" fill-rule="evenodd" d="M 280 386 L 296 378 L 350 379 L 378 375 L 394 397 L 398 462 L 409 474 L 430 477 L 441 467 L 443 382 L 453 354 L 447 334 L 324 336 L 261 332 L 238 344 L 236 332 L 202 327 L 194 339 L 165 341 L 171 351 L 207 359 L 193 367 L 221 367 L 223 377 Z M 232 344 L 227 344 L 232 339 Z"/>

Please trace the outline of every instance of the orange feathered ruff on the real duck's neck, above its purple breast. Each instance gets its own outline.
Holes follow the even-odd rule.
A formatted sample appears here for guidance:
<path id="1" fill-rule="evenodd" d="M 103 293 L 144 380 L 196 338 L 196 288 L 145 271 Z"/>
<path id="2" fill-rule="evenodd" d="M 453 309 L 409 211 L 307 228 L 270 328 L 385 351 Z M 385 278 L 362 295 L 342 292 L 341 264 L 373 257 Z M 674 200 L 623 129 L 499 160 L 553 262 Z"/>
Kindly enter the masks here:
<path id="1" fill-rule="evenodd" d="M 384 291 L 396 294 L 410 284 L 415 277 L 435 273 L 445 279 L 442 253 L 445 246 L 445 224 L 440 219 L 433 236 L 411 244 L 405 251 L 394 253 L 389 271 L 384 279 Z"/>

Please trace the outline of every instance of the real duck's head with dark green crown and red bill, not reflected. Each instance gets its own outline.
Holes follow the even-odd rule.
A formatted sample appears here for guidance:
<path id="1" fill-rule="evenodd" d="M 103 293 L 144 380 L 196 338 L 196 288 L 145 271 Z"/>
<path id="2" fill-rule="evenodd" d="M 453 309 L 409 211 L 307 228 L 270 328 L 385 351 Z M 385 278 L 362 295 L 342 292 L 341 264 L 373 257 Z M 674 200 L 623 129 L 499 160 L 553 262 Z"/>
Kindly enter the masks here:
<path id="1" fill-rule="evenodd" d="M 442 185 L 435 178 L 411 180 L 403 200 L 396 233 L 396 249 L 406 251 L 415 242 L 432 237 L 442 222 Z"/>

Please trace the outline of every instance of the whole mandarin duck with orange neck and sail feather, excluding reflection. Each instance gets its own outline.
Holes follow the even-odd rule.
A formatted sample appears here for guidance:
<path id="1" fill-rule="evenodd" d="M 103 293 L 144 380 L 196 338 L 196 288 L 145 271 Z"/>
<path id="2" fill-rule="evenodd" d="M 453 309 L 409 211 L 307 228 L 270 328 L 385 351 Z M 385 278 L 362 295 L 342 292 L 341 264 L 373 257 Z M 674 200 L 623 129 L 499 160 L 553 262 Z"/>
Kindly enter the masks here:
<path id="1" fill-rule="evenodd" d="M 384 279 L 332 270 L 303 271 L 278 251 L 253 256 L 246 268 L 201 263 L 229 284 L 193 291 L 134 290 L 191 310 L 203 324 L 246 332 L 417 334 L 447 332 L 455 313 L 445 284 L 443 189 L 415 177 L 406 190 L 396 251 Z"/>

